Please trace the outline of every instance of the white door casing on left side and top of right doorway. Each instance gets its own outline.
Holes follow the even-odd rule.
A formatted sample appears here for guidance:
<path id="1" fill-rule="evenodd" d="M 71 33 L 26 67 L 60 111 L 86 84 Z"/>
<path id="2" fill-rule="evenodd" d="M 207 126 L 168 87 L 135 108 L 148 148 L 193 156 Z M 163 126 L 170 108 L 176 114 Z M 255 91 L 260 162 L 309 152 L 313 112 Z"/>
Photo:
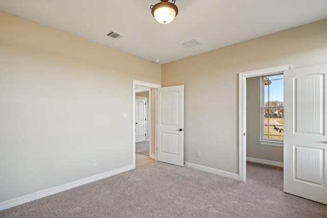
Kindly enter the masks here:
<path id="1" fill-rule="evenodd" d="M 292 64 L 239 73 L 239 180 L 246 181 L 246 79 L 277 74 L 292 69 Z"/>

